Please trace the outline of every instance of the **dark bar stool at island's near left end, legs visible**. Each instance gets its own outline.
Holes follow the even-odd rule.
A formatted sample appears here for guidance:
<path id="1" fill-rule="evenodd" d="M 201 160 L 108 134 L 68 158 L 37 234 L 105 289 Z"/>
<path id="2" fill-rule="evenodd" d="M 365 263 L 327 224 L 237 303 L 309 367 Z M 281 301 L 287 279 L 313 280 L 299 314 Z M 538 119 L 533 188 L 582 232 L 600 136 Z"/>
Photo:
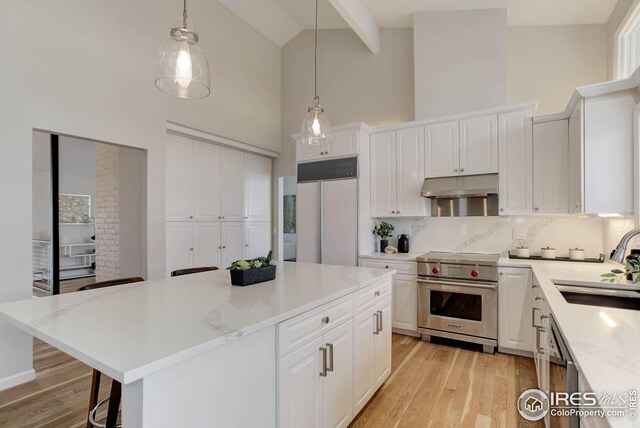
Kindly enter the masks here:
<path id="1" fill-rule="evenodd" d="M 131 278 L 110 279 L 108 281 L 95 282 L 78 288 L 78 291 L 95 290 L 98 288 L 113 287 L 115 285 L 131 284 L 134 282 L 143 282 L 144 279 L 139 276 Z M 89 414 L 87 415 L 87 428 L 116 428 L 118 422 L 118 412 L 120 411 L 120 401 L 122 399 L 122 385 L 117 380 L 111 381 L 111 392 L 109 396 L 98 403 L 98 393 L 100 392 L 100 378 L 102 373 L 93 369 L 91 376 L 91 391 L 89 393 Z M 104 424 L 96 422 L 96 413 L 98 408 L 104 403 L 109 402 L 107 410 L 107 421 Z"/>

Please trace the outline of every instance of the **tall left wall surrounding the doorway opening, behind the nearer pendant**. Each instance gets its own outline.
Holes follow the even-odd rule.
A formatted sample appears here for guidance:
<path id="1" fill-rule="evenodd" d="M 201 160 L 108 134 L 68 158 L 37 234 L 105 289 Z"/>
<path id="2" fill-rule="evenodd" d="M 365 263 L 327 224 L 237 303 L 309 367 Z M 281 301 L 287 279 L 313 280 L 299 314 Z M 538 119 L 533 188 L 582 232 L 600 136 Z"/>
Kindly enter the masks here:
<path id="1" fill-rule="evenodd" d="M 216 1 L 189 2 L 212 94 L 174 99 L 153 84 L 179 2 L 0 2 L 0 302 L 31 294 L 32 130 L 147 149 L 149 277 L 164 276 L 165 122 L 280 149 L 280 49 Z M 10 65 L 9 65 L 10 64 Z M 2 380 L 31 369 L 31 337 L 0 323 Z"/>

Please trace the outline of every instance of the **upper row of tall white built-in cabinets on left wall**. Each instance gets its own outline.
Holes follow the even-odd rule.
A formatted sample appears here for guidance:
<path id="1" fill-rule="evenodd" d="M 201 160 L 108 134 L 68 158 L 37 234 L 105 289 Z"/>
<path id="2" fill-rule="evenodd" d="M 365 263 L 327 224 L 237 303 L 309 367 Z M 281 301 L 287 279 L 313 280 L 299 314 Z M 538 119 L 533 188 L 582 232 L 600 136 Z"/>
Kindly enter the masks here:
<path id="1" fill-rule="evenodd" d="M 270 221 L 271 159 L 168 135 L 167 221 Z"/>

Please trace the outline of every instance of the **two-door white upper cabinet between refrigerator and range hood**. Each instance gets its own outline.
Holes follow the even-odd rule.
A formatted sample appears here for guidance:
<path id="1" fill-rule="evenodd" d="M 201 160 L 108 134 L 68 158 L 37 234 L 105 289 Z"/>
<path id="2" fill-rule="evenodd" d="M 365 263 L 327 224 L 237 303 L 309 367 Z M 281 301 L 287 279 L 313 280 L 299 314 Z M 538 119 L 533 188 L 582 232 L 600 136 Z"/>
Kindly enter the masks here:
<path id="1" fill-rule="evenodd" d="M 371 216 L 425 215 L 420 197 L 424 177 L 424 128 L 371 136 Z"/>

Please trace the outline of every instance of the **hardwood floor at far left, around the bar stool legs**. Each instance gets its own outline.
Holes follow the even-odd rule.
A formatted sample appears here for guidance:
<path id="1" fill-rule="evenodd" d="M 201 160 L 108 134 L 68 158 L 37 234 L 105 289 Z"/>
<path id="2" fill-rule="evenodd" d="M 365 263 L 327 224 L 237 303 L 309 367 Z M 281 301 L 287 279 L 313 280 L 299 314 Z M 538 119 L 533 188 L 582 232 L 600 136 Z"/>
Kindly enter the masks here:
<path id="1" fill-rule="evenodd" d="M 0 427 L 84 427 L 91 368 L 38 339 L 33 345 L 36 379 L 0 392 Z M 111 387 L 111 379 L 102 378 L 100 399 Z"/>

